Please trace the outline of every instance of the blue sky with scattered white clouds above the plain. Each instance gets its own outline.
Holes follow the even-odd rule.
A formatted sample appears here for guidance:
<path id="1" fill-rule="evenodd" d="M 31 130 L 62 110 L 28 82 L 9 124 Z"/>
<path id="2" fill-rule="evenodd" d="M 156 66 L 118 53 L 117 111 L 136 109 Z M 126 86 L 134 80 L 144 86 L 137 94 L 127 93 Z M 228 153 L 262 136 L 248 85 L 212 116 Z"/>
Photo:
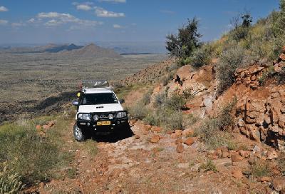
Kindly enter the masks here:
<path id="1" fill-rule="evenodd" d="M 279 0 L 0 0 L 0 44 L 163 42 L 194 16 L 209 41 L 244 9 L 256 21 Z"/>

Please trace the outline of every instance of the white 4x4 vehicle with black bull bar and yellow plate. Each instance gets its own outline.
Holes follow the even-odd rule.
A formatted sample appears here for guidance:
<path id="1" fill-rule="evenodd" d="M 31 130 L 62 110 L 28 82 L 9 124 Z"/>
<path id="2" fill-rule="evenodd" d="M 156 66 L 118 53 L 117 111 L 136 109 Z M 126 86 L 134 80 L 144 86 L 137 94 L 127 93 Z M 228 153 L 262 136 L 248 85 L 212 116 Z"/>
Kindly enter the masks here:
<path id="1" fill-rule="evenodd" d="M 124 100 L 118 100 L 107 81 L 92 81 L 91 84 L 91 87 L 83 86 L 78 101 L 73 101 L 77 106 L 73 127 L 77 141 L 84 141 L 90 133 L 120 132 L 120 128 L 129 127 L 128 113 L 121 105 Z"/>

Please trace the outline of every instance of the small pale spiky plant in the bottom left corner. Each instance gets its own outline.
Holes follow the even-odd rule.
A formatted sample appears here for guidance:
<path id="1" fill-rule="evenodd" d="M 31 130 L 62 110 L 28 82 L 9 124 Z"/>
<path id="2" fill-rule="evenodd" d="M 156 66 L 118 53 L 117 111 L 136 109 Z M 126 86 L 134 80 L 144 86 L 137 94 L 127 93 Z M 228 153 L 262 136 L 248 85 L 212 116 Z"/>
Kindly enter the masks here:
<path id="1" fill-rule="evenodd" d="M 0 193 L 16 194 L 24 188 L 19 173 L 11 174 L 6 166 L 4 170 L 0 170 Z"/>

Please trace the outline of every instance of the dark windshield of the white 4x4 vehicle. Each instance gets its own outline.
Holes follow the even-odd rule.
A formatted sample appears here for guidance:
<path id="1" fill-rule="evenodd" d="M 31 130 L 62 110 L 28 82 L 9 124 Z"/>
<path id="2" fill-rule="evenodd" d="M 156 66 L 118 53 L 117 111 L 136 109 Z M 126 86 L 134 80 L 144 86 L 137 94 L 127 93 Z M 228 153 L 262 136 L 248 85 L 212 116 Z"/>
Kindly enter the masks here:
<path id="1" fill-rule="evenodd" d="M 118 103 L 114 93 L 86 93 L 82 96 L 82 105 Z"/>

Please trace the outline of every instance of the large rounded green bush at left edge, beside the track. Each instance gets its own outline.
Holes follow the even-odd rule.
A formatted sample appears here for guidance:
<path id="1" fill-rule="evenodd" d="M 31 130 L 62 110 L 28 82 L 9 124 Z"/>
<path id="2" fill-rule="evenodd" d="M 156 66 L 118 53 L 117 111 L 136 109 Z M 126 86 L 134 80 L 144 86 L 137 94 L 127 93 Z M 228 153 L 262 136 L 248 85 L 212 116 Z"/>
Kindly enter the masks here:
<path id="1" fill-rule="evenodd" d="M 9 124 L 0 127 L 0 162 L 9 173 L 19 173 L 21 181 L 33 184 L 48 180 L 61 160 L 58 147 L 36 133 L 34 126 Z"/>

